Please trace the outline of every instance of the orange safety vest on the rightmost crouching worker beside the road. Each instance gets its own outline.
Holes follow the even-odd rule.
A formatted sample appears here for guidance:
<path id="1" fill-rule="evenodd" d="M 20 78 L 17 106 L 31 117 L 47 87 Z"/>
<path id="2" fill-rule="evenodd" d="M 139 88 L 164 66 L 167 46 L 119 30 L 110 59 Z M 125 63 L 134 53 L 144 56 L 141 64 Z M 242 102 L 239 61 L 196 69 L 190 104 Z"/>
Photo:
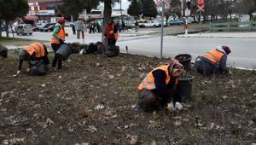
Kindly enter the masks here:
<path id="1" fill-rule="evenodd" d="M 218 51 L 217 49 L 212 49 L 211 51 L 207 52 L 207 54 L 203 55 L 203 57 L 211 61 L 213 64 L 219 65 L 223 55 L 223 52 Z"/>

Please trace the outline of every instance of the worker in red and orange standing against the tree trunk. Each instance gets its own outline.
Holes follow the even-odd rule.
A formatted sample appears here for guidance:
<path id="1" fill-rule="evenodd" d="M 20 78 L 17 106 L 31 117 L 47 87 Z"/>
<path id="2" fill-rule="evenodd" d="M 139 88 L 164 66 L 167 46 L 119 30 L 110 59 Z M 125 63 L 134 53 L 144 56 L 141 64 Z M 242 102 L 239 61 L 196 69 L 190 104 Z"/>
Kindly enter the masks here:
<path id="1" fill-rule="evenodd" d="M 108 39 L 108 45 L 115 45 L 116 41 L 119 37 L 119 34 L 117 32 L 117 26 L 113 22 L 113 20 L 109 20 L 108 26 L 105 30 L 105 37 Z"/>

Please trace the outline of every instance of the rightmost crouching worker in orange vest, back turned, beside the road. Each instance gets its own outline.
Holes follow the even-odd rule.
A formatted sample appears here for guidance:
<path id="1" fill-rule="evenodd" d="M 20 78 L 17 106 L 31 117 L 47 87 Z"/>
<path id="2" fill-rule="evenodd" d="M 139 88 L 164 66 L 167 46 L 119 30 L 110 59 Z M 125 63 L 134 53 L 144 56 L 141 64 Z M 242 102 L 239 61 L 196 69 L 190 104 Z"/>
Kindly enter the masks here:
<path id="1" fill-rule="evenodd" d="M 228 46 L 218 46 L 205 55 L 200 55 L 195 59 L 195 69 L 198 73 L 209 76 L 220 73 L 228 73 L 226 67 L 227 55 L 231 52 Z"/>

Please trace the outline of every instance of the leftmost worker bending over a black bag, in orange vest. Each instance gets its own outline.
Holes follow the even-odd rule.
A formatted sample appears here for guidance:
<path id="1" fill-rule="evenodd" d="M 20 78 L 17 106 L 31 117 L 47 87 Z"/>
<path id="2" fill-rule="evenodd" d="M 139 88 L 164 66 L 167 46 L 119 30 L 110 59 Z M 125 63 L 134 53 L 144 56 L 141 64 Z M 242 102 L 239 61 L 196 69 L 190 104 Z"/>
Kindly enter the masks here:
<path id="1" fill-rule="evenodd" d="M 31 75 L 44 75 L 49 64 L 48 51 L 44 44 L 33 43 L 20 50 L 19 67 L 17 74 L 20 74 L 23 61 L 28 61 L 29 68 L 26 72 Z"/>

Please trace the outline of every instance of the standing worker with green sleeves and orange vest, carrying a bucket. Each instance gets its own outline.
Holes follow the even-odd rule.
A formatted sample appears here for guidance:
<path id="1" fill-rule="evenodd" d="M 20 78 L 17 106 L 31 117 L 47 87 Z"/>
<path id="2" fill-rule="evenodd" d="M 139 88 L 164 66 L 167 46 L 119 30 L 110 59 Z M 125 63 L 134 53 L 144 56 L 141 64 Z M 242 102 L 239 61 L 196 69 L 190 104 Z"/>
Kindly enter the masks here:
<path id="1" fill-rule="evenodd" d="M 55 29 L 51 38 L 51 47 L 55 51 L 55 58 L 52 61 L 52 68 L 56 69 L 56 63 L 58 62 L 58 69 L 61 69 L 61 61 L 59 60 L 58 56 L 56 55 L 56 51 L 60 48 L 61 44 L 64 43 L 65 37 L 68 36 L 67 33 L 65 33 L 64 25 L 66 20 L 61 18 L 58 20 L 58 23 L 55 25 Z"/>

